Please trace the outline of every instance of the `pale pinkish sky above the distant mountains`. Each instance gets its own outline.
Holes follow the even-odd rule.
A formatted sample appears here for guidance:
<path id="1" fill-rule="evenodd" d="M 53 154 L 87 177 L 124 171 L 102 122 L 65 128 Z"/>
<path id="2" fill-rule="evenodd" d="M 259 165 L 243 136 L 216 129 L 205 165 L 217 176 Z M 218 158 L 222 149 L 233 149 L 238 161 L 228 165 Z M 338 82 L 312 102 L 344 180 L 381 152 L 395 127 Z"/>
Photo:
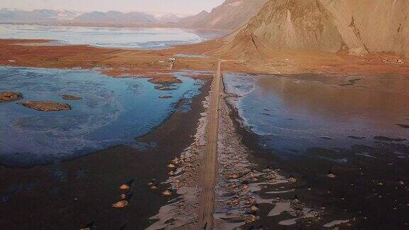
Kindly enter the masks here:
<path id="1" fill-rule="evenodd" d="M 0 0 L 1 8 L 199 13 L 224 0 Z"/>

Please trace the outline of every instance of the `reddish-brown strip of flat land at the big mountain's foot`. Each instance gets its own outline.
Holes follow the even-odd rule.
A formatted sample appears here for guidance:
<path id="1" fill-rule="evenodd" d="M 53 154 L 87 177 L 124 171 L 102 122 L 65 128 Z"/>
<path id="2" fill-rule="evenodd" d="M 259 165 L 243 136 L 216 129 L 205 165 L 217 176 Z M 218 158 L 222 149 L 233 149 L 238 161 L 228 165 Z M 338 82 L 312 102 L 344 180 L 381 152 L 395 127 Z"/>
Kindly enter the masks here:
<path id="1" fill-rule="evenodd" d="M 396 72 L 409 71 L 409 59 L 393 53 L 369 53 L 349 55 L 346 51 L 328 53 L 322 51 L 285 51 L 265 47 L 261 53 L 239 58 L 240 55 L 225 52 L 226 39 L 210 40 L 194 45 L 180 45 L 167 50 L 125 50 L 95 48 L 87 45 L 48 46 L 46 40 L 1 40 L 0 65 L 45 68 L 92 69 L 112 77 L 138 75 L 173 82 L 170 75 L 178 70 L 212 71 L 215 60 L 224 60 L 222 71 L 255 73 L 295 72 Z M 44 45 L 24 45 L 44 43 Z M 262 46 L 262 43 L 256 42 Z M 212 58 L 174 57 L 178 53 L 202 55 Z M 173 61 L 171 58 L 175 58 Z M 400 61 L 400 62 L 398 62 Z M 170 70 L 171 68 L 171 70 Z M 200 75 L 200 77 L 211 77 Z"/>

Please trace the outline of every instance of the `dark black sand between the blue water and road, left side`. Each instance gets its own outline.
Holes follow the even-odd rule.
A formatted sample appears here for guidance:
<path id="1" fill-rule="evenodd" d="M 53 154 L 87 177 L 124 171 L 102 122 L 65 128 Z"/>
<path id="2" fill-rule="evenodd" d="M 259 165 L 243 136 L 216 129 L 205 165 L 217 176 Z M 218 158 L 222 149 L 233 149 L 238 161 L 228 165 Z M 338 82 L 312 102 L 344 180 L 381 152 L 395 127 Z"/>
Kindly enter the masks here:
<path id="1" fill-rule="evenodd" d="M 161 126 L 138 141 L 156 143 L 141 151 L 117 146 L 55 165 L 34 168 L 0 167 L 0 229 L 145 229 L 168 199 L 166 185 L 152 191 L 153 178 L 168 178 L 166 165 L 190 143 L 203 111 L 209 82 L 192 101 L 190 111 L 178 110 Z M 123 190 L 134 180 L 130 203 L 114 209 Z"/>

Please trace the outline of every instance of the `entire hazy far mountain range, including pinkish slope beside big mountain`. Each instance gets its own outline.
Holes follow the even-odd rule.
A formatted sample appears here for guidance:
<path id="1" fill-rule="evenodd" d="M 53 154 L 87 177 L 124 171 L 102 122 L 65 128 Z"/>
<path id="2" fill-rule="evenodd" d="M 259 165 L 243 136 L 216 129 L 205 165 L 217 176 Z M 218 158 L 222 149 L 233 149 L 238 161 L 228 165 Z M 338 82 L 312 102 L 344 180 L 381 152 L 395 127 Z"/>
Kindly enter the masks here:
<path id="1" fill-rule="evenodd" d="M 226 0 L 212 11 L 202 11 L 195 16 L 175 13 L 145 13 L 120 11 L 87 12 L 55 11 L 49 9 L 25 11 L 1 9 L 0 23 L 49 23 L 70 25 L 170 25 L 187 28 L 236 30 L 246 25 L 268 0 Z"/>

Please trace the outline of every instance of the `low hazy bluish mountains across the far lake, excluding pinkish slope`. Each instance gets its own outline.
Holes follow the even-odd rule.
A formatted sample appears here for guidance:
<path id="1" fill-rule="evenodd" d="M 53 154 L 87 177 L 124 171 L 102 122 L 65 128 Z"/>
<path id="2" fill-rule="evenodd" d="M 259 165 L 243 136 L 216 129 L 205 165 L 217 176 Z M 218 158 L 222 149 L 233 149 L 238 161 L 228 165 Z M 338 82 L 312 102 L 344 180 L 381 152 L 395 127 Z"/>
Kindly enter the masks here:
<path id="1" fill-rule="evenodd" d="M 1 9 L 0 23 L 84 23 L 104 25 L 136 25 L 141 23 L 177 23 L 182 16 L 173 13 L 143 13 L 119 11 L 80 13 L 49 9 Z"/>

